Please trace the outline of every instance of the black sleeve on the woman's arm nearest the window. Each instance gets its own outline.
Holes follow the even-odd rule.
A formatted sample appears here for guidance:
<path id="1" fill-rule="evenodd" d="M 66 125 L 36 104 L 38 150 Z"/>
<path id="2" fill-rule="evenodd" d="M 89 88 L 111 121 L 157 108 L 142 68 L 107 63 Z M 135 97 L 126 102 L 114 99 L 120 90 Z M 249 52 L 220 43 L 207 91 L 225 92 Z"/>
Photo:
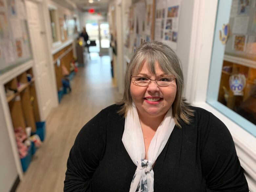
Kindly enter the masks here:
<path id="1" fill-rule="evenodd" d="M 208 113 L 201 128 L 201 165 L 207 192 L 248 192 L 234 141 L 224 123 Z"/>

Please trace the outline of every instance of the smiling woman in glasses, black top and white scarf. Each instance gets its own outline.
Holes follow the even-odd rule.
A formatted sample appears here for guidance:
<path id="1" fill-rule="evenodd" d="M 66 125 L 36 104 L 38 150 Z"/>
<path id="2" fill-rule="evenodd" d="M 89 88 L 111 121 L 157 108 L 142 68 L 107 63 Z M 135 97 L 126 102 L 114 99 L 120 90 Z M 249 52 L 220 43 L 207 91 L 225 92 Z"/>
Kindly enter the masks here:
<path id="1" fill-rule="evenodd" d="M 79 132 L 64 191 L 248 192 L 228 129 L 186 103 L 182 89 L 177 55 L 143 43 L 127 66 L 121 103 Z"/>

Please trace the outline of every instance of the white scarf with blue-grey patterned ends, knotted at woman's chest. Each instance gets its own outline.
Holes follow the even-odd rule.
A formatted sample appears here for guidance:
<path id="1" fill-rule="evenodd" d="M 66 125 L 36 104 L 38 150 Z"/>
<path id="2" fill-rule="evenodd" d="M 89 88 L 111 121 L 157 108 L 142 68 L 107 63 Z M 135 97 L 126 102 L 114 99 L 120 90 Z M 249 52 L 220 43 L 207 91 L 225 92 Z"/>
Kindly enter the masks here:
<path id="1" fill-rule="evenodd" d="M 148 148 L 148 160 L 145 160 L 143 133 L 137 108 L 133 103 L 132 109 L 128 111 L 127 117 L 125 118 L 124 133 L 122 137 L 126 151 L 137 166 L 131 182 L 130 192 L 154 191 L 154 171 L 152 165 L 156 162 L 158 156 L 166 145 L 174 126 L 175 122 L 172 117 L 171 107 L 150 142 Z"/>

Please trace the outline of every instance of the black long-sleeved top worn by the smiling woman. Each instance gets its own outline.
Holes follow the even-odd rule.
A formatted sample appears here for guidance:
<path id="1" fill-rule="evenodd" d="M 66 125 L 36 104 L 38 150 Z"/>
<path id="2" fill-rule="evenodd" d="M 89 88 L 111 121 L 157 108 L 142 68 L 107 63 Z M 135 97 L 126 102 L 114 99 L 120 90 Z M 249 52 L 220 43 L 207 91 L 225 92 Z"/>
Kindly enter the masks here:
<path id="1" fill-rule="evenodd" d="M 122 143 L 125 119 L 111 105 L 79 132 L 67 162 L 64 191 L 128 192 L 136 165 Z M 155 192 L 248 192 L 233 139 L 210 112 L 192 107 L 156 160 Z"/>

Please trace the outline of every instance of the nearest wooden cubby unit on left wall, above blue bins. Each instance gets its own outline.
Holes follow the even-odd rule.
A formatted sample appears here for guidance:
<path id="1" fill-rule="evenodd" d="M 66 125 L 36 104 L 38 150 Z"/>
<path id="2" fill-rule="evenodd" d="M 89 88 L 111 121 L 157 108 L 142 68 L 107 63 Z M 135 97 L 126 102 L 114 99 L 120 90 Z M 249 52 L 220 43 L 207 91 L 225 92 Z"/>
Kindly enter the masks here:
<path id="1" fill-rule="evenodd" d="M 31 79 L 28 81 L 27 74 Z M 34 86 L 32 69 L 29 69 L 5 84 L 5 89 L 13 91 L 7 95 L 13 128 L 31 127 L 32 132 L 36 131 L 36 122 L 40 121 L 37 96 Z"/>

